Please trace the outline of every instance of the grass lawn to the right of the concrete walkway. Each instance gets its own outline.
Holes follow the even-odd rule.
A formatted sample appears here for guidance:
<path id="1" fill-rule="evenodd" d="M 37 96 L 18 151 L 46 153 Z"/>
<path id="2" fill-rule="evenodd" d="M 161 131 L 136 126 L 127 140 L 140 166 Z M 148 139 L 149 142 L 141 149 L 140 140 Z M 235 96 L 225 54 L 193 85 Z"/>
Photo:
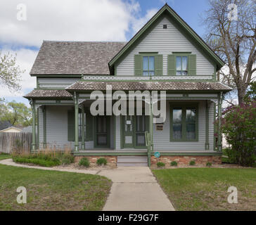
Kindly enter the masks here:
<path id="1" fill-rule="evenodd" d="M 153 169 L 176 210 L 256 210 L 256 169 Z M 229 186 L 238 204 L 227 202 Z"/>

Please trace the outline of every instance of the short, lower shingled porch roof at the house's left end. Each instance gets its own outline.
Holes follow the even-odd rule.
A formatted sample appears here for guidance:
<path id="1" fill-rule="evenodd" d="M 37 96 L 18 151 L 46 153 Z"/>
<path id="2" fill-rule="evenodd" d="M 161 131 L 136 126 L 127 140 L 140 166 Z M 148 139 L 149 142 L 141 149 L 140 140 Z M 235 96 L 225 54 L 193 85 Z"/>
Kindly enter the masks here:
<path id="1" fill-rule="evenodd" d="M 65 90 L 33 90 L 24 98 L 72 98 L 72 94 Z"/>

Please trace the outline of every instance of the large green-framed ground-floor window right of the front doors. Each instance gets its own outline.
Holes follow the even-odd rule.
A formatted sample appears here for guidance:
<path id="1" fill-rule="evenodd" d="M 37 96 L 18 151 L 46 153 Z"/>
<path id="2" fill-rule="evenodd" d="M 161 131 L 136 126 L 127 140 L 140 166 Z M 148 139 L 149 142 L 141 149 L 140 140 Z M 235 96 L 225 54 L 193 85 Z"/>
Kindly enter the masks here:
<path id="1" fill-rule="evenodd" d="M 198 107 L 171 107 L 171 141 L 198 141 Z"/>

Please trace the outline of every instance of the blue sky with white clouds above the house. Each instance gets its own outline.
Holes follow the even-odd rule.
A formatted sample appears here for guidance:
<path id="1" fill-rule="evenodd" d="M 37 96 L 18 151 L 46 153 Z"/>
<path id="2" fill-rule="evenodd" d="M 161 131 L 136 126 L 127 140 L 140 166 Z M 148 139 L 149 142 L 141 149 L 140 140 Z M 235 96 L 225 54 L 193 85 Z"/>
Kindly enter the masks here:
<path id="1" fill-rule="evenodd" d="M 43 40 L 129 41 L 165 3 L 203 36 L 207 0 L 1 0 L 0 51 L 17 54 L 25 72 L 22 89 L 1 86 L 0 97 L 28 105 L 23 96 L 36 87 L 30 70 Z"/>

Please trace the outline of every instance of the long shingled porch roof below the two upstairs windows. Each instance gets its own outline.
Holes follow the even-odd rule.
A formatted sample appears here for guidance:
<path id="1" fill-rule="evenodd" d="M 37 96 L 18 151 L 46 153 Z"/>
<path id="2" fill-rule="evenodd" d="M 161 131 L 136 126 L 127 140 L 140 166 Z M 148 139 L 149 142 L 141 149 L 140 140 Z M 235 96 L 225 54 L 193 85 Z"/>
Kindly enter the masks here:
<path id="1" fill-rule="evenodd" d="M 113 90 L 148 90 L 148 91 L 231 91 L 229 86 L 219 82 L 75 82 L 67 91 L 106 90 L 111 85 Z"/>

